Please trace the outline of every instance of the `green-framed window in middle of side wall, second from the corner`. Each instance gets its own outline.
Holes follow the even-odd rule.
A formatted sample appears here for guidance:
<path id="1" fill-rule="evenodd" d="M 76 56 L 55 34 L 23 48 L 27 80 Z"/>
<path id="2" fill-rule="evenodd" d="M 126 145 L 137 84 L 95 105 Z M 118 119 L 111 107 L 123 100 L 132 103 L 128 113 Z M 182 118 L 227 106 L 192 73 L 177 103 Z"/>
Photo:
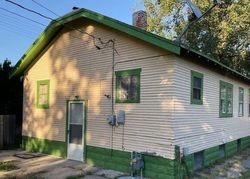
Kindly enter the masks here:
<path id="1" fill-rule="evenodd" d="M 220 82 L 220 117 L 233 116 L 233 85 Z"/>

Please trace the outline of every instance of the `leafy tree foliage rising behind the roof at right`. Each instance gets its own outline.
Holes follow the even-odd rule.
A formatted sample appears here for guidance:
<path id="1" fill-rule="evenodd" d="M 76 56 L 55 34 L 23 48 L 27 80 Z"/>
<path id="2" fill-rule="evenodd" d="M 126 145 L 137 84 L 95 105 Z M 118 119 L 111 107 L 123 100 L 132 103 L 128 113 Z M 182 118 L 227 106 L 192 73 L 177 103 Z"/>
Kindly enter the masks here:
<path id="1" fill-rule="evenodd" d="M 142 0 L 148 15 L 148 31 L 175 40 L 188 24 L 183 1 Z M 212 0 L 193 0 L 202 12 Z M 250 0 L 224 0 L 194 23 L 182 37 L 187 47 L 199 50 L 250 76 Z"/>

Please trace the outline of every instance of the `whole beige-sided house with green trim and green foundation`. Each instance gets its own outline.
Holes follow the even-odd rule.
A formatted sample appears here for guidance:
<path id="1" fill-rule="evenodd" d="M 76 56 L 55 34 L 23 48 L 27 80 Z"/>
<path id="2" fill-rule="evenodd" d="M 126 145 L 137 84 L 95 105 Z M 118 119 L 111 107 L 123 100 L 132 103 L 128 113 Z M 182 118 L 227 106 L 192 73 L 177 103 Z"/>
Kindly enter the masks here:
<path id="1" fill-rule="evenodd" d="M 158 179 L 177 178 L 181 169 L 192 172 L 250 145 L 249 78 L 89 10 L 53 21 L 12 76 L 24 79 L 27 150 L 125 172 L 130 152 L 143 152 L 144 175 Z M 114 112 L 125 111 L 124 125 L 106 120 L 112 87 Z"/>

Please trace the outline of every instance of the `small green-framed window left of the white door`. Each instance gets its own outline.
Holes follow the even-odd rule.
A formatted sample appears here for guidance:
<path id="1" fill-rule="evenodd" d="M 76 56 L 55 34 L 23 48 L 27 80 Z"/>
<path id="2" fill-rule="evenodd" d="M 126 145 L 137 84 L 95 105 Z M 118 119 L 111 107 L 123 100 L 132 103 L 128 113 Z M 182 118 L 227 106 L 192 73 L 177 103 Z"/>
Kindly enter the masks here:
<path id="1" fill-rule="evenodd" d="M 37 81 L 37 107 L 49 108 L 49 80 Z"/>

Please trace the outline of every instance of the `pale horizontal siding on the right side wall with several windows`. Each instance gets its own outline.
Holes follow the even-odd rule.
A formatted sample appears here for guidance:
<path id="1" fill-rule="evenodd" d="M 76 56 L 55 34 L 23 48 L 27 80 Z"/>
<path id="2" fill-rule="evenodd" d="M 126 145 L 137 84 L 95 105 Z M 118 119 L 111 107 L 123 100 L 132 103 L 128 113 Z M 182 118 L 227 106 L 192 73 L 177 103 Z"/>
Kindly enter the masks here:
<path id="1" fill-rule="evenodd" d="M 190 103 L 191 70 L 204 75 L 203 105 Z M 233 117 L 219 117 L 220 80 L 233 84 Z M 238 117 L 239 87 L 244 88 L 244 116 Z M 191 61 L 178 59 L 174 70 L 174 144 L 189 153 L 250 135 L 249 85 L 223 76 Z"/>

